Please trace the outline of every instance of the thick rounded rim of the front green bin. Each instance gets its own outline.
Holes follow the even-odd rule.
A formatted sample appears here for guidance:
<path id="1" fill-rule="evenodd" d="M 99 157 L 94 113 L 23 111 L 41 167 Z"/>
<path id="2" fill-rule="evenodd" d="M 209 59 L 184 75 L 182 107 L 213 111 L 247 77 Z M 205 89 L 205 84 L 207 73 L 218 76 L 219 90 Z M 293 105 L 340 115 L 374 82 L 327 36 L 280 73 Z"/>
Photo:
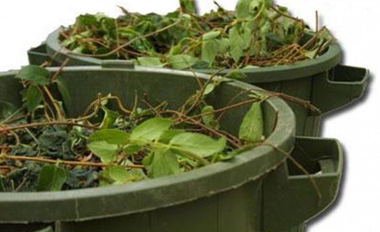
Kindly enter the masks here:
<path id="1" fill-rule="evenodd" d="M 57 72 L 58 68 L 49 68 L 49 71 Z M 80 75 L 81 72 L 88 71 L 176 74 L 178 77 L 193 78 L 190 72 L 145 67 L 135 67 L 132 70 L 104 69 L 96 66 L 67 67 L 63 69 L 62 74 L 64 76 L 65 73 L 75 72 Z M 0 82 L 2 78 L 10 78 L 16 73 L 17 71 L 0 73 Z M 205 79 L 209 76 L 197 74 L 197 77 Z M 236 80 L 225 84 L 243 90 L 260 89 Z M 278 97 L 271 97 L 266 101 L 278 112 L 276 127 L 266 139 L 266 143 L 290 152 L 295 140 L 295 115 Z M 61 192 L 0 193 L 0 205 L 3 209 L 0 211 L 0 222 L 83 221 L 177 205 L 212 196 L 259 179 L 285 162 L 286 158 L 269 146 L 261 146 L 244 152 L 229 162 L 219 162 L 190 172 L 123 186 Z M 13 217 L 9 218 L 7 210 L 17 210 L 19 213 L 12 213 Z"/>

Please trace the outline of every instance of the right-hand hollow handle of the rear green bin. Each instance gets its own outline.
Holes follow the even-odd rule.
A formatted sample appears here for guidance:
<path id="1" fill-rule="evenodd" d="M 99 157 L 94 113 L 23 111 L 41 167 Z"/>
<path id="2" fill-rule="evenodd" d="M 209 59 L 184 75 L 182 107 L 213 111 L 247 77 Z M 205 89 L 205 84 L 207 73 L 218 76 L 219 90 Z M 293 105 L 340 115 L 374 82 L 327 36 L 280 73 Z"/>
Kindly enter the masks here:
<path id="1" fill-rule="evenodd" d="M 363 96 L 370 72 L 364 68 L 338 65 L 313 78 L 312 104 L 327 114 Z"/>

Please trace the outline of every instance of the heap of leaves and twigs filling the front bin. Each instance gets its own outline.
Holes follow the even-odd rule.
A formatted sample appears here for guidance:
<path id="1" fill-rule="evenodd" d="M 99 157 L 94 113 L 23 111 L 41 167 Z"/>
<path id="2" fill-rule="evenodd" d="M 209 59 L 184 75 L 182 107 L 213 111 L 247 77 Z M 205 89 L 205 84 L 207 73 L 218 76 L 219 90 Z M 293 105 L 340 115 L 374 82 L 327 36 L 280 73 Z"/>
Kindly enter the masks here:
<path id="1" fill-rule="evenodd" d="M 245 102 L 214 109 L 207 96 L 223 82 L 219 77 L 199 81 L 200 89 L 178 110 L 166 102 L 153 106 L 137 95 L 128 110 L 117 96 L 99 94 L 83 115 L 68 118 L 71 96 L 59 73 L 23 67 L 16 76 L 24 86 L 22 107 L 0 102 L 0 192 L 73 190 L 158 178 L 230 160 L 264 140 L 265 97 L 249 92 Z M 227 110 L 247 104 L 251 107 L 237 137 L 220 129 Z"/>

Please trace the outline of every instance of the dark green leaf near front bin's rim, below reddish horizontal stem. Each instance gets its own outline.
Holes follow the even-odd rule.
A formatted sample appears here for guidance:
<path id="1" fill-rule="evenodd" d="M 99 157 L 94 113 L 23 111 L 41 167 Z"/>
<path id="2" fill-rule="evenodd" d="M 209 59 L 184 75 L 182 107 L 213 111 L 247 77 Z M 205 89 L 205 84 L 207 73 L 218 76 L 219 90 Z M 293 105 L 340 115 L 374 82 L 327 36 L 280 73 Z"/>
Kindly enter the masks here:
<path id="1" fill-rule="evenodd" d="M 67 179 L 67 172 L 64 168 L 56 165 L 45 165 L 38 176 L 37 190 L 60 191 Z"/>

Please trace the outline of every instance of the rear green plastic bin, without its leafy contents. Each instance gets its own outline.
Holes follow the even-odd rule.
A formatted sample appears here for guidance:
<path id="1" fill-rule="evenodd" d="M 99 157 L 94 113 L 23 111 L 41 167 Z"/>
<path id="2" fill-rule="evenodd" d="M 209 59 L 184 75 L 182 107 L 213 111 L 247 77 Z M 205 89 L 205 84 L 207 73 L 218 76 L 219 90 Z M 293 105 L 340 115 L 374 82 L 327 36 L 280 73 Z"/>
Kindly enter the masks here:
<path id="1" fill-rule="evenodd" d="M 70 66 L 101 65 L 102 60 L 91 57 L 81 57 L 69 54 L 70 51 L 61 47 L 59 30 L 51 33 L 45 44 L 28 52 L 31 64 L 39 65 L 43 57 L 54 57 L 54 64 L 61 64 L 66 58 L 71 60 Z M 44 52 L 43 52 L 44 50 Z M 293 65 L 264 67 L 242 70 L 247 77 L 242 81 L 257 85 L 271 91 L 309 101 L 321 110 L 321 114 L 310 112 L 303 106 L 289 103 L 296 114 L 296 134 L 303 136 L 318 136 L 321 116 L 352 103 L 360 98 L 367 86 L 369 72 L 363 68 L 339 65 L 342 50 L 338 43 L 333 43 L 328 51 L 314 59 L 301 61 Z M 199 73 L 212 74 L 216 70 L 196 70 Z M 223 73 L 228 73 L 226 70 Z"/>

